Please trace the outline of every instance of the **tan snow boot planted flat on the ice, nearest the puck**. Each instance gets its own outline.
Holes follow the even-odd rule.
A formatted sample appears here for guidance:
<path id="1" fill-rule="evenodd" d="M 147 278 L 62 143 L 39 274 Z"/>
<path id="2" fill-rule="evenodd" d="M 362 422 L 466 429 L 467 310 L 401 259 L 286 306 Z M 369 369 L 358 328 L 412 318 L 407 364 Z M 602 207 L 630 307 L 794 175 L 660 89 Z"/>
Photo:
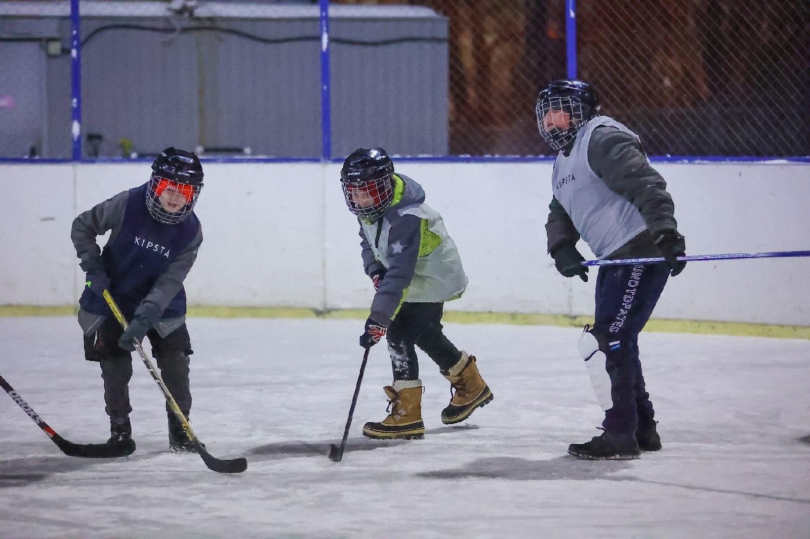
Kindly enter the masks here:
<path id="1" fill-rule="evenodd" d="M 376 439 L 414 439 L 424 435 L 422 381 L 396 380 L 383 390 L 390 399 L 390 414 L 382 422 L 368 422 L 363 435 Z"/>

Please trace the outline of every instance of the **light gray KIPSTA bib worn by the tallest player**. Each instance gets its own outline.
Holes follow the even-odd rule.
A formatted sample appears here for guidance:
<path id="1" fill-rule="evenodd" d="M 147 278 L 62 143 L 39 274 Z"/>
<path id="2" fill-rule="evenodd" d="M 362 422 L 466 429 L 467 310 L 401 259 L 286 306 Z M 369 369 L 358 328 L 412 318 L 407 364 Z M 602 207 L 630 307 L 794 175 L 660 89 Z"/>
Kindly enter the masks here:
<path id="1" fill-rule="evenodd" d="M 588 164 L 590 136 L 601 125 L 615 127 L 638 138 L 633 131 L 610 117 L 594 117 L 578 133 L 569 155 L 562 151 L 557 155 L 552 172 L 554 197 L 599 260 L 646 230 L 637 207 L 612 192 Z"/>

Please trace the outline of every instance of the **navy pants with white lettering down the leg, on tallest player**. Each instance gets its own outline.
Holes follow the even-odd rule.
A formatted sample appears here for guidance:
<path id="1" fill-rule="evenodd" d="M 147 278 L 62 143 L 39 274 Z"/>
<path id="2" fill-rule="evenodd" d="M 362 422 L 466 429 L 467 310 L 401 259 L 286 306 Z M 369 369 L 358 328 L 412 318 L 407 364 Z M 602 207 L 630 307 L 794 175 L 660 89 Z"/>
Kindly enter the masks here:
<path id="1" fill-rule="evenodd" d="M 592 333 L 607 356 L 613 407 L 605 412 L 607 431 L 635 432 L 639 421 L 654 417 L 638 358 L 638 333 L 658 303 L 669 268 L 666 264 L 603 265 L 596 277 L 596 314 Z"/>

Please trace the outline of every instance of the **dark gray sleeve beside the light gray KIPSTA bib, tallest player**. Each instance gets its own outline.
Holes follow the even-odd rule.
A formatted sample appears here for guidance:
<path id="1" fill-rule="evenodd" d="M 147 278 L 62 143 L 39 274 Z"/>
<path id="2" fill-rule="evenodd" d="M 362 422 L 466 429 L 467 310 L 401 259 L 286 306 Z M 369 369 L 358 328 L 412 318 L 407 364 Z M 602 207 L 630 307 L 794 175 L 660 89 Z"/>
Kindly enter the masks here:
<path id="1" fill-rule="evenodd" d="M 608 126 L 595 129 L 588 145 L 588 163 L 608 189 L 638 208 L 653 236 L 677 227 L 667 182 L 650 166 L 633 135 Z"/>

